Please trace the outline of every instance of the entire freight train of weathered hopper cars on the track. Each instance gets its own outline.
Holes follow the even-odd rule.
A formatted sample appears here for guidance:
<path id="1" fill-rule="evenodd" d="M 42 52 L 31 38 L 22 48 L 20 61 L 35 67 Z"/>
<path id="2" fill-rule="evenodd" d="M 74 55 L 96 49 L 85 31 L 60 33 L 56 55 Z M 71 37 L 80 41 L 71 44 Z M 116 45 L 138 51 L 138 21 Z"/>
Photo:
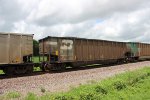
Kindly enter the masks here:
<path id="1" fill-rule="evenodd" d="M 36 65 L 32 58 L 32 34 L 0 33 L 0 69 L 4 73 L 32 73 Z M 150 59 L 150 44 L 51 36 L 39 40 L 38 65 L 43 71 L 139 59 Z"/>

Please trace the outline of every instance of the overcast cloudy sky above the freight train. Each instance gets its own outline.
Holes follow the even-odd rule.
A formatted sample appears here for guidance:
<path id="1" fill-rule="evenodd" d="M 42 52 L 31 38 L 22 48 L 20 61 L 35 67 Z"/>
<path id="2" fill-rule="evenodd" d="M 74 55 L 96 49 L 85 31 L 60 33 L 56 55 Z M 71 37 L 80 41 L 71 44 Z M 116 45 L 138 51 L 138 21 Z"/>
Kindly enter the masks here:
<path id="1" fill-rule="evenodd" d="M 0 32 L 150 43 L 150 0 L 0 0 Z"/>

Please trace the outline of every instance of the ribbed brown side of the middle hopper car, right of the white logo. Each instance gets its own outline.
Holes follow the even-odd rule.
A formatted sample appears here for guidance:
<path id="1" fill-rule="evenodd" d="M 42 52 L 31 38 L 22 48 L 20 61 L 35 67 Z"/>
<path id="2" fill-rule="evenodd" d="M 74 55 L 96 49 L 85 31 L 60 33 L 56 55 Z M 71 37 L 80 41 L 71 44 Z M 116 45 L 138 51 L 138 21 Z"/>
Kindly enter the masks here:
<path id="1" fill-rule="evenodd" d="M 117 60 L 123 58 L 127 52 L 125 43 L 116 45 L 115 42 L 80 39 L 75 42 L 76 61 Z"/>

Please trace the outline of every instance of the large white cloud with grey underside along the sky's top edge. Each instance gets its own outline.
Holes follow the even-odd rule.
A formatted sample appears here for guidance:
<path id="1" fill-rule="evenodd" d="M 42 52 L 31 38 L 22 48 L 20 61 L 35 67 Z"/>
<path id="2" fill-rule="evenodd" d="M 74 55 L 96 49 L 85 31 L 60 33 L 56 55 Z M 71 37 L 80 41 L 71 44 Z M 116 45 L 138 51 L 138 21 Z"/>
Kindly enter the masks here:
<path id="1" fill-rule="evenodd" d="M 144 0 L 148 1 L 148 0 Z M 110 17 L 116 12 L 130 12 L 143 7 L 141 0 L 41 0 L 28 19 L 37 25 L 80 23 Z M 144 2 L 145 3 L 145 2 Z"/>

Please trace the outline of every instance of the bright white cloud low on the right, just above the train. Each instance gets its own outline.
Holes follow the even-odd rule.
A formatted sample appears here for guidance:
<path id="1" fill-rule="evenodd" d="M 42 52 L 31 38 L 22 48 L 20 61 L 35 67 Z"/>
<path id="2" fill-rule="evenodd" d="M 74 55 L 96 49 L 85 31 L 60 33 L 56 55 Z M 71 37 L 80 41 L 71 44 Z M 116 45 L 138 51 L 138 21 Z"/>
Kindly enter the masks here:
<path id="1" fill-rule="evenodd" d="M 144 8 L 130 13 L 116 13 L 88 31 L 96 34 L 93 38 L 145 42 L 143 36 L 150 34 L 149 12 L 149 8 Z"/>

